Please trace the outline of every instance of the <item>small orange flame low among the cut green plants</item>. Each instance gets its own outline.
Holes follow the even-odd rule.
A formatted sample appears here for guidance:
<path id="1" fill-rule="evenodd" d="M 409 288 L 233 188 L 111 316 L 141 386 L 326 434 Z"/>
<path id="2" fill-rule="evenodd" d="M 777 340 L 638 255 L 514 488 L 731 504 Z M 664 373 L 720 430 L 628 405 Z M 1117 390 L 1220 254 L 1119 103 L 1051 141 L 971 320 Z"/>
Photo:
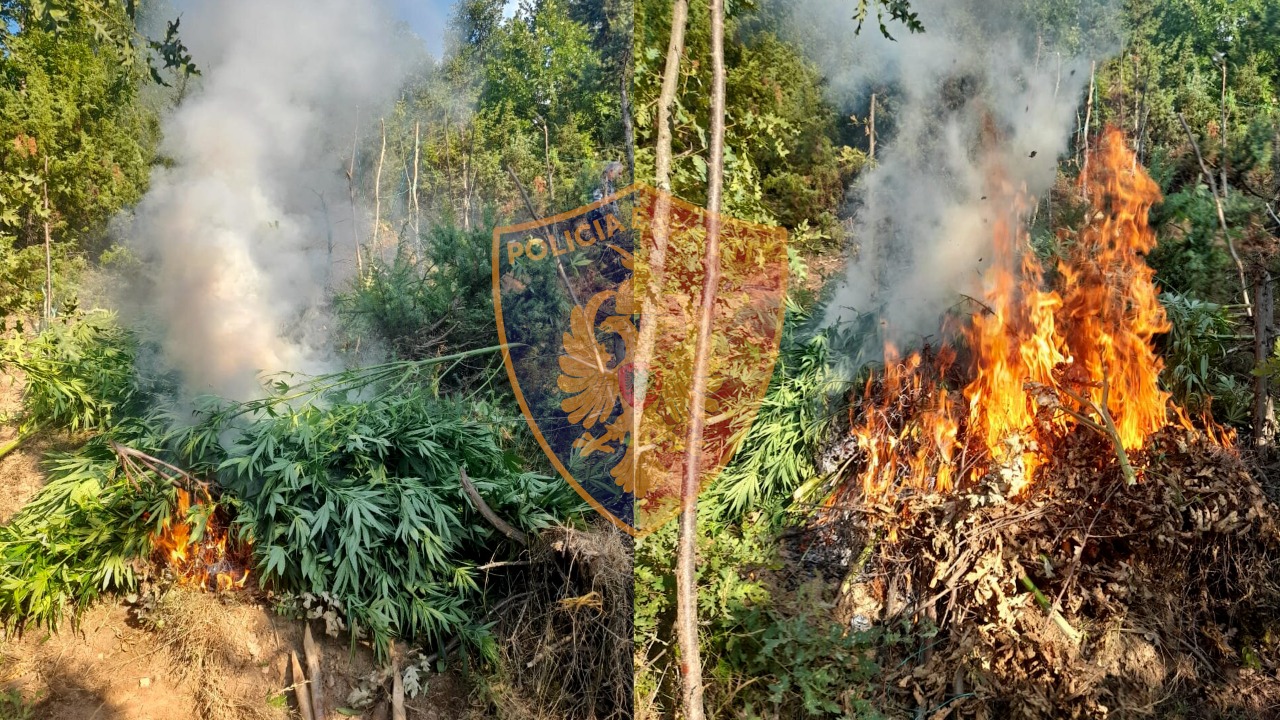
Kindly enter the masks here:
<path id="1" fill-rule="evenodd" d="M 212 591 L 232 591 L 248 580 L 243 548 L 230 543 L 216 514 L 205 524 L 204 536 L 192 539 L 191 495 L 179 488 L 178 506 L 164 530 L 152 536 L 152 556 L 173 570 L 178 584 Z"/>

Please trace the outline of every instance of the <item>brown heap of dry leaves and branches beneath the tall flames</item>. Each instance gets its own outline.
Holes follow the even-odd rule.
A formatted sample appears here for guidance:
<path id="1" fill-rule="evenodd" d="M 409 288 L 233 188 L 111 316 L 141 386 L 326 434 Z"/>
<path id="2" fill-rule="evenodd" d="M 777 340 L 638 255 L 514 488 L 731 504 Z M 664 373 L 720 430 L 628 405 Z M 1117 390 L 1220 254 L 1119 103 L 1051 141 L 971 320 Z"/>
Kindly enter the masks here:
<path id="1" fill-rule="evenodd" d="M 992 482 L 817 519 L 809 556 L 846 574 L 842 619 L 920 638 L 886 646 L 884 706 L 934 719 L 1272 716 L 1275 507 L 1234 451 L 1187 432 L 1134 454 L 1135 486 L 1112 450 L 1078 430 L 1014 500 Z"/>

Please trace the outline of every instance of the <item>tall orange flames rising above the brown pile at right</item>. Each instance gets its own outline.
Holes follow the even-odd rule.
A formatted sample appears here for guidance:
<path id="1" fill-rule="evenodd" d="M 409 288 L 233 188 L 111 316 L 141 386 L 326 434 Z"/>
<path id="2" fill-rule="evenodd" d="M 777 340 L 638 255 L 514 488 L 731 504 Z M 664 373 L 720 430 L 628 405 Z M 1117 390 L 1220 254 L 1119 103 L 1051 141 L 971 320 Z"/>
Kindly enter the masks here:
<path id="1" fill-rule="evenodd" d="M 1175 421 L 1190 421 L 1160 388 L 1162 361 L 1152 338 L 1169 331 L 1157 300 L 1155 270 L 1144 255 L 1156 246 L 1147 224 L 1160 188 L 1135 163 L 1117 129 L 1108 129 L 1080 177 L 1092 208 L 1055 265 L 1052 287 L 1028 247 L 1020 222 L 1024 193 L 993 168 L 988 196 L 1004 211 L 993 224 L 995 264 L 983 307 L 963 327 L 950 327 L 972 354 L 964 402 L 946 380 L 956 354 L 943 348 L 928 361 L 905 361 L 884 348 L 884 373 L 868 380 L 863 419 L 852 429 L 865 456 L 860 487 L 869 497 L 902 489 L 945 492 L 963 480 L 1000 470 L 1016 495 L 1044 464 L 1053 439 L 1076 420 L 1046 414 L 1028 388 L 1064 389 L 1103 404 L 1125 450 Z M 961 380 L 963 382 L 963 380 Z M 1106 392 L 1103 387 L 1106 386 Z M 1088 413 L 1087 407 L 1076 410 Z M 1229 441 L 1210 428 L 1213 441 Z"/>

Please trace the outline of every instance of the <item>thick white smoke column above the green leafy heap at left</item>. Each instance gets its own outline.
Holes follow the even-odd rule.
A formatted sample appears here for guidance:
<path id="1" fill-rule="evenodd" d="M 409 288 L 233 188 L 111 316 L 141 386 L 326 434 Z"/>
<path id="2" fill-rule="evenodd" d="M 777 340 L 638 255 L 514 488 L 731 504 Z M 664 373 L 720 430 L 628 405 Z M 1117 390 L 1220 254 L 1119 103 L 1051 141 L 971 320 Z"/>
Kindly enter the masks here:
<path id="1" fill-rule="evenodd" d="M 376 117 L 408 54 L 371 1 L 183 10 L 201 76 L 163 122 L 169 161 L 128 229 L 147 284 L 125 306 L 155 331 L 188 392 L 246 400 L 261 393 L 259 373 L 334 363 L 326 286 L 353 264 L 343 160 L 357 113 Z"/>

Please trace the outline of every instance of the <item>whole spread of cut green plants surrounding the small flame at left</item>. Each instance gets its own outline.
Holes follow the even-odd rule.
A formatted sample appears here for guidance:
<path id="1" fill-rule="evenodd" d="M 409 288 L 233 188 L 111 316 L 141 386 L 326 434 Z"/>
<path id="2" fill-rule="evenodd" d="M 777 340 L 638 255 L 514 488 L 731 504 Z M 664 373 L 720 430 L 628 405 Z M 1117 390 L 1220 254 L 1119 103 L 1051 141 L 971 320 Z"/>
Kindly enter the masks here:
<path id="1" fill-rule="evenodd" d="M 74 401 L 37 405 L 38 416 L 111 427 L 55 456 L 49 486 L 0 528 L 0 616 L 9 626 L 56 625 L 67 610 L 74 616 L 104 592 L 133 588 L 134 561 L 151 553 L 177 502 L 174 482 L 184 478 L 137 464 L 127 471 L 115 443 L 218 478 L 219 502 L 252 542 L 259 582 L 332 598 L 353 638 L 383 652 L 392 638 L 461 635 L 488 647 L 474 569 L 518 550 L 466 500 L 461 468 L 499 516 L 526 532 L 580 510 L 567 484 L 522 471 L 493 424 L 422 388 L 429 368 L 494 348 L 294 384 L 278 377 L 266 398 L 205 398 L 195 423 L 175 423 L 120 413 L 131 355 L 104 350 L 116 347 L 104 338 L 124 337 L 111 328 L 86 322 L 41 345 L 61 352 L 38 355 L 61 363 L 46 373 L 50 382 L 86 375 L 97 384 L 76 384 Z M 45 372 L 29 360 L 27 368 Z M 114 400 L 90 392 L 102 388 Z M 193 505 L 192 524 L 202 527 L 212 509 L 211 498 Z"/>

